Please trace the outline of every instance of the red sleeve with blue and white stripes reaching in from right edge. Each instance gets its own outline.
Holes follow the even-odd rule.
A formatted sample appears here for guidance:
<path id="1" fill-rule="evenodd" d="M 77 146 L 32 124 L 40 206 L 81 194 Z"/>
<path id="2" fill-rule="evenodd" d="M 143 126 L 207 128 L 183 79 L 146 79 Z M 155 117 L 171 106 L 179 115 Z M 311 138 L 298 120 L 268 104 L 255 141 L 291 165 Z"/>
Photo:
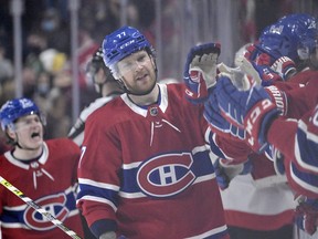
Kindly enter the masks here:
<path id="1" fill-rule="evenodd" d="M 283 153 L 292 188 L 298 194 L 317 197 L 318 107 L 298 122 L 277 118 L 268 129 L 267 139 Z"/>

